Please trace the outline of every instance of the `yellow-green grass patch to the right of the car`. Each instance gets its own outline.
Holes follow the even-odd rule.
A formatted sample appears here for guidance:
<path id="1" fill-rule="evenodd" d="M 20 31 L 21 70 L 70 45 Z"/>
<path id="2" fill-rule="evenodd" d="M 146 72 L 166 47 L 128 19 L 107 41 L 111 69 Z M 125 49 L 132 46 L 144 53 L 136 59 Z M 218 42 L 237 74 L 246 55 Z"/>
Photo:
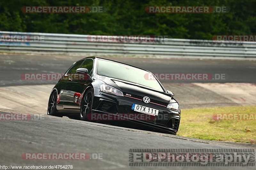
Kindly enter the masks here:
<path id="1" fill-rule="evenodd" d="M 251 114 L 251 117 L 249 117 L 251 120 L 230 120 L 232 116 L 222 117 L 229 120 L 217 120 L 216 114 L 234 114 L 233 116 L 235 114 Z M 238 119 L 240 119 L 240 115 Z M 177 135 L 207 140 L 256 144 L 256 106 L 181 110 L 181 122 Z"/>

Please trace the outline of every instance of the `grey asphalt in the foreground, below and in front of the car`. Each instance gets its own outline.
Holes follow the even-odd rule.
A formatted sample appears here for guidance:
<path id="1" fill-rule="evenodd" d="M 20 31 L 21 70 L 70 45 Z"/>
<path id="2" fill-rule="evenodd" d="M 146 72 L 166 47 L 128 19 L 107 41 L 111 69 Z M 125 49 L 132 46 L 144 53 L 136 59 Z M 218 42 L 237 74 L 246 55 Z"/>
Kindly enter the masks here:
<path id="1" fill-rule="evenodd" d="M 73 169 L 225 169 L 240 170 L 242 167 L 224 166 L 129 166 L 129 149 L 237 149 L 249 146 L 207 144 L 172 137 L 161 133 L 104 127 L 85 121 L 63 119 L 45 115 L 40 120 L 1 122 L 1 165 L 49 166 L 73 165 Z M 170 135 L 171 136 L 171 135 Z M 25 160 L 22 153 L 88 153 L 102 154 L 102 159 L 87 160 Z M 243 167 L 255 169 L 255 166 Z"/>

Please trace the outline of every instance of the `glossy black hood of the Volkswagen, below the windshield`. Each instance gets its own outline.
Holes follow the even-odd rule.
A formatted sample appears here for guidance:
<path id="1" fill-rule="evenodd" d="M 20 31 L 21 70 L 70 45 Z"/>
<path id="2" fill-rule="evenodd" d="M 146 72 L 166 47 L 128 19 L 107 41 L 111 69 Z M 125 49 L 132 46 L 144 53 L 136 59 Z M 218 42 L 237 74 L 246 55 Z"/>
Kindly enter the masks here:
<path id="1" fill-rule="evenodd" d="M 104 81 L 106 84 L 121 90 L 124 96 L 130 96 L 134 98 L 138 98 L 138 96 L 148 96 L 151 100 L 153 99 L 164 103 L 170 103 L 170 100 L 173 99 L 170 94 L 159 92 L 157 90 L 140 86 L 132 82 L 118 80 L 106 76 L 101 76 L 101 78 L 101 80 Z"/>

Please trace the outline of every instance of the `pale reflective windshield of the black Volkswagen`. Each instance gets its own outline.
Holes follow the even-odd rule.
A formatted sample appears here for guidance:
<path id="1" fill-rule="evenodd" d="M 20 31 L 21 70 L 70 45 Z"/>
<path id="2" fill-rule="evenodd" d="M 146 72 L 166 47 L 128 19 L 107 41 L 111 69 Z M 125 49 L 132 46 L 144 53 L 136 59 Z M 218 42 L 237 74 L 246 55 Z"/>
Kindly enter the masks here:
<path id="1" fill-rule="evenodd" d="M 108 60 L 98 60 L 97 74 L 163 91 L 152 73 L 125 64 Z"/>

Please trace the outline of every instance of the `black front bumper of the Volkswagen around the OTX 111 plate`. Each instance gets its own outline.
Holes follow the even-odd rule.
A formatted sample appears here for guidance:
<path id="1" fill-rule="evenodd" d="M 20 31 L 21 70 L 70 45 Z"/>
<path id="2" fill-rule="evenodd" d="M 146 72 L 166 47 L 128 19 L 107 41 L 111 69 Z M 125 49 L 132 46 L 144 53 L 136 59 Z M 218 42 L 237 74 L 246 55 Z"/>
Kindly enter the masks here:
<path id="1" fill-rule="evenodd" d="M 150 116 L 134 111 L 131 109 L 133 103 L 158 109 L 159 113 L 157 116 Z M 108 114 L 110 117 L 115 117 L 115 120 L 116 118 L 124 119 L 159 130 L 168 131 L 172 134 L 177 133 L 180 125 L 180 112 L 172 111 L 161 105 L 144 103 L 141 100 L 126 96 L 114 96 L 102 93 L 100 89 L 94 89 L 91 112 L 96 114 Z M 136 116 L 133 117 L 133 115 Z M 113 119 L 110 118 L 109 120 Z"/>

